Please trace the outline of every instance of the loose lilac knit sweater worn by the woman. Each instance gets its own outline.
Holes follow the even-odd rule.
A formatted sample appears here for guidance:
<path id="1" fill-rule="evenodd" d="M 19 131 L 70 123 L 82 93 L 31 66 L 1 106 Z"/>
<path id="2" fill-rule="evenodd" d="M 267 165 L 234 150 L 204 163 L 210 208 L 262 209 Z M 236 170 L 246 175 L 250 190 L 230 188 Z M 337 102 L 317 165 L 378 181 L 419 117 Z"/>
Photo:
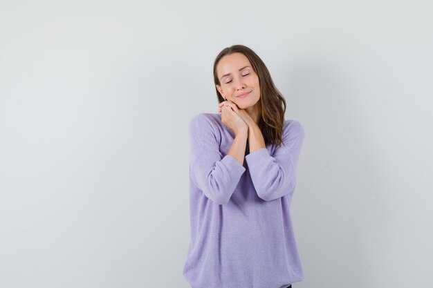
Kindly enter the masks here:
<path id="1" fill-rule="evenodd" d="M 304 278 L 291 200 L 304 128 L 284 123 L 284 145 L 228 155 L 220 113 L 190 121 L 190 229 L 183 276 L 192 288 L 285 288 Z"/>

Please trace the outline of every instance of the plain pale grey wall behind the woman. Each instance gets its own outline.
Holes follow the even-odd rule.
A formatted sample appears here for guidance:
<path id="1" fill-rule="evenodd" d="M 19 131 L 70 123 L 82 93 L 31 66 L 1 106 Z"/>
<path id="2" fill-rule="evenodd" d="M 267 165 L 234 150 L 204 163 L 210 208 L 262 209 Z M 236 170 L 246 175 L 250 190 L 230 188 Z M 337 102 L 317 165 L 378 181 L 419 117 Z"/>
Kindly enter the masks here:
<path id="1" fill-rule="evenodd" d="M 293 287 L 431 287 L 427 0 L 0 0 L 0 287 L 190 288 L 188 123 L 233 44 L 305 130 Z"/>

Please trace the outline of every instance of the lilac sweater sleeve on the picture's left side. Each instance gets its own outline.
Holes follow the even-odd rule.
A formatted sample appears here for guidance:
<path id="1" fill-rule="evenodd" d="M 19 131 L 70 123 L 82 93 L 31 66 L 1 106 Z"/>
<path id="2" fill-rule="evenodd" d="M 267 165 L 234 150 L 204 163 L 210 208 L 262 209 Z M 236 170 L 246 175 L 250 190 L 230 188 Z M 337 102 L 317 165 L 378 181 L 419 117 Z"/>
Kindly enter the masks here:
<path id="1" fill-rule="evenodd" d="M 222 156 L 210 121 L 205 113 L 190 121 L 190 177 L 210 200 L 227 204 L 246 168 L 232 155 Z"/>

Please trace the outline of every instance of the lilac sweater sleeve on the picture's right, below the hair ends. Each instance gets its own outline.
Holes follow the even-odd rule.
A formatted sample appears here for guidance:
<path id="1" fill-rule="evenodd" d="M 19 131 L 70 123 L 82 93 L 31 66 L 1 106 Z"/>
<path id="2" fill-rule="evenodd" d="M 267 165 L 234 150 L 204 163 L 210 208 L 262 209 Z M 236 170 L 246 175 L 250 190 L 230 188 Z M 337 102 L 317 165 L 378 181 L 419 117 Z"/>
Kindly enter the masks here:
<path id="1" fill-rule="evenodd" d="M 295 191 L 296 166 L 303 141 L 304 128 L 300 122 L 291 120 L 284 129 L 284 145 L 275 148 L 273 155 L 266 148 L 246 155 L 252 184 L 261 199 L 272 201 L 284 195 L 291 199 Z"/>

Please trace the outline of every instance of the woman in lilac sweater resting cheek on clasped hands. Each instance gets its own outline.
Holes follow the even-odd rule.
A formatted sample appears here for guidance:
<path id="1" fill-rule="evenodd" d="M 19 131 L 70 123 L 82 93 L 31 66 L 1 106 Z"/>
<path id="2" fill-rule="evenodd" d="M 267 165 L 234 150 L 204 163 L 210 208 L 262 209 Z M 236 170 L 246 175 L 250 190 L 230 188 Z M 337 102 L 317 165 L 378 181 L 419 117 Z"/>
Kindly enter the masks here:
<path id="1" fill-rule="evenodd" d="M 190 122 L 192 288 L 286 288 L 304 278 L 291 223 L 304 129 L 264 62 L 234 45 L 214 61 L 219 113 Z M 221 113 L 221 114 L 220 114 Z"/>

